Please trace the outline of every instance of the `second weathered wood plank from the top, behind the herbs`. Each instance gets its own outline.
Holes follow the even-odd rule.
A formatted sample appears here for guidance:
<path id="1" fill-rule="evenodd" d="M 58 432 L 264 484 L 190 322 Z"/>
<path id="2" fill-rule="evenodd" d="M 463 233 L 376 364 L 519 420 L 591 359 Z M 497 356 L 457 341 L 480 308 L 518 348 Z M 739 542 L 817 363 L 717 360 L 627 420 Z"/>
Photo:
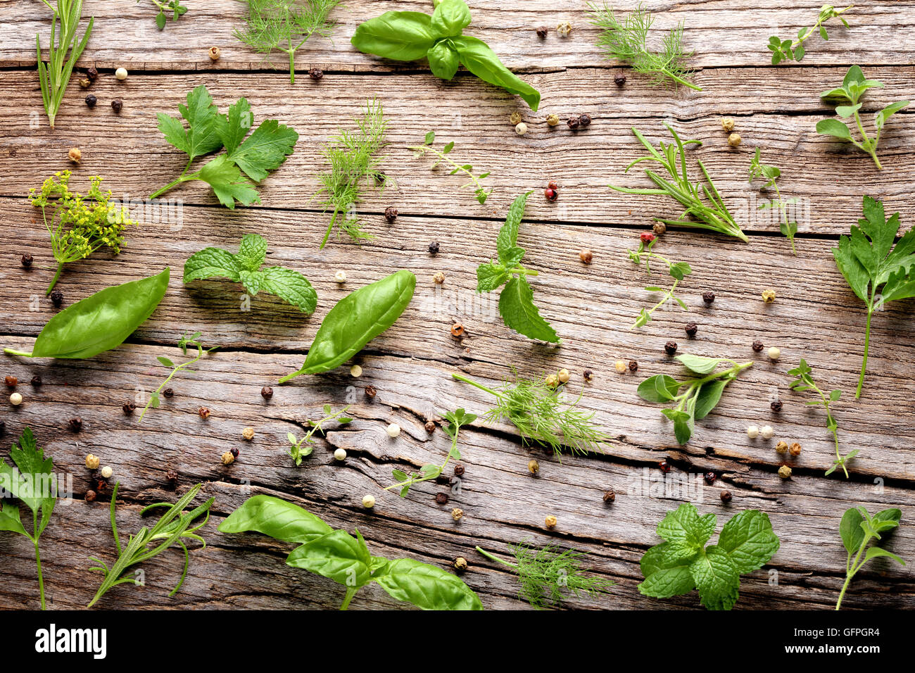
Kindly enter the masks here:
<path id="1" fill-rule="evenodd" d="M 791 84 L 784 86 L 787 75 L 781 73 L 787 72 L 793 73 Z M 85 176 L 83 180 L 99 174 L 117 194 L 145 199 L 177 178 L 187 163 L 185 155 L 168 145 L 156 129 L 156 113 L 178 114 L 178 103 L 187 92 L 205 83 L 221 109 L 243 94 L 253 105 L 255 121 L 274 117 L 299 132 L 295 154 L 262 183 L 264 207 L 270 209 L 319 209 L 319 201 L 310 201 L 310 195 L 318 189 L 318 172 L 324 167 L 321 145 L 337 133 L 339 125 L 347 125 L 352 115 L 360 113 L 367 94 L 377 92 L 390 121 L 391 145 L 383 166 L 396 188 L 370 191 L 360 205 L 362 212 L 382 212 L 393 204 L 404 214 L 500 217 L 522 190 L 539 192 L 549 180 L 556 180 L 561 187 L 559 201 L 550 203 L 538 193 L 529 206 L 531 219 L 643 226 L 654 216 L 676 217 L 678 204 L 671 200 L 608 188 L 609 184 L 653 186 L 638 169 L 624 172 L 632 160 L 645 154 L 630 128 L 639 127 L 653 143 L 670 142 L 663 128 L 667 123 L 684 138 L 705 143 L 690 154 L 702 159 L 737 222 L 748 231 L 778 231 L 772 211 L 757 208 L 771 195 L 760 193 L 759 184 L 747 181 L 756 147 L 762 147 L 763 161 L 782 169 L 784 197 L 800 200 L 795 214 L 802 232 L 846 233 L 860 216 L 863 189 L 885 199 L 888 208 L 899 210 L 908 227 L 915 221 L 915 195 L 910 190 L 915 181 L 915 150 L 908 142 L 915 132 L 915 114 L 903 111 L 888 124 L 880 143 L 885 168 L 877 170 L 870 157 L 855 147 L 814 131 L 817 120 L 832 114 L 817 93 L 841 81 L 843 74 L 839 69 L 811 68 L 718 71 L 710 101 L 693 93 L 671 100 L 667 93 L 629 85 L 618 90 L 606 71 L 576 71 L 576 87 L 570 90 L 570 75 L 546 73 L 535 76 L 544 90 L 543 114 L 529 117 L 531 130 L 520 137 L 508 123 L 515 109 L 511 96 L 473 78 L 443 84 L 431 75 L 328 77 L 290 97 L 281 75 L 156 75 L 126 82 L 109 77 L 93 87 L 100 100 L 94 110 L 80 102 L 82 92 L 70 92 L 52 131 L 40 114 L 38 84 L 23 81 L 20 73 L 0 72 L 0 85 L 35 102 L 31 108 L 17 98 L 0 103 L 7 125 L 0 138 L 0 156 L 8 159 L 0 164 L 0 193 L 26 195 L 53 171 L 72 167 L 67 151 L 80 147 L 77 172 Z M 887 89 L 868 99 L 868 111 L 904 97 L 915 100 L 912 67 L 877 76 Z M 115 96 L 124 99 L 120 115 L 108 105 Z M 436 98 L 431 114 L 425 104 L 416 103 L 429 96 Z M 474 101 L 472 112 L 468 96 Z M 565 124 L 551 128 L 545 123 L 550 112 L 565 118 L 586 111 L 594 117 L 587 131 L 573 133 Z M 737 131 L 743 137 L 739 148 L 727 146 L 721 115 L 737 116 Z M 429 129 L 438 134 L 439 147 L 456 141 L 456 160 L 472 163 L 479 173 L 491 172 L 486 183 L 496 191 L 485 205 L 462 188 L 460 177 L 432 171 L 430 158 L 414 157 L 408 147 L 421 144 Z M 698 179 L 698 168 L 693 164 L 690 169 Z M 199 182 L 171 190 L 164 198 L 188 204 L 217 202 L 209 187 Z"/>

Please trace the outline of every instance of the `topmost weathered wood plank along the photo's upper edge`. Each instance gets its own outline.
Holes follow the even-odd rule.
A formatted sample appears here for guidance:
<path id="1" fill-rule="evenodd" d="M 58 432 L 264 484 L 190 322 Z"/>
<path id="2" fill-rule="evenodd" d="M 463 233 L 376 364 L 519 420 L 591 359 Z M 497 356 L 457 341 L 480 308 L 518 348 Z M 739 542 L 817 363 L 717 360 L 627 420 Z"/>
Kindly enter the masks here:
<path id="1" fill-rule="evenodd" d="M 50 17 L 46 7 L 25 0 L 0 3 L 0 65 L 34 66 L 35 36 L 47 45 Z M 350 37 L 362 21 L 382 12 L 412 10 L 431 12 L 428 0 L 351 0 L 331 16 L 339 22 L 332 41 L 312 38 L 296 54 L 296 69 L 307 72 L 319 66 L 328 70 L 390 70 L 416 68 L 415 64 L 392 63 L 361 54 L 350 45 Z M 589 25 L 584 3 L 576 0 L 549 2 L 525 0 L 511 5 L 500 0 L 473 0 L 468 3 L 473 23 L 467 34 L 486 40 L 503 62 L 516 70 L 551 70 L 578 66 L 612 65 L 597 48 L 597 29 Z M 619 12 L 638 5 L 628 1 L 612 3 Z M 88 0 L 83 16 L 95 17 L 92 38 L 83 62 L 94 61 L 102 67 L 126 65 L 156 71 L 182 70 L 263 70 L 275 66 L 288 69 L 285 55 L 272 60 L 253 52 L 232 35 L 244 24 L 244 5 L 234 0 L 197 0 L 188 5 L 188 14 L 177 23 L 169 22 L 159 31 L 153 21 L 156 9 L 151 3 L 129 0 Z M 873 65 L 908 63 L 915 57 L 915 21 L 911 2 L 877 2 L 857 5 L 845 16 L 847 29 L 833 21 L 828 26 L 831 39 L 818 36 L 807 44 L 804 61 L 814 65 L 867 62 Z M 694 67 L 761 66 L 770 62 L 766 49 L 771 35 L 792 38 L 798 29 L 810 27 L 818 15 L 816 5 L 788 6 L 777 0 L 764 0 L 752 7 L 739 7 L 720 0 L 703 0 L 676 6 L 653 3 L 655 44 L 662 32 L 684 22 L 684 46 L 694 50 Z M 573 31 L 559 37 L 555 27 L 570 21 Z M 545 25 L 548 38 L 537 38 L 535 29 Z M 221 59 L 213 63 L 207 50 L 221 49 Z"/>

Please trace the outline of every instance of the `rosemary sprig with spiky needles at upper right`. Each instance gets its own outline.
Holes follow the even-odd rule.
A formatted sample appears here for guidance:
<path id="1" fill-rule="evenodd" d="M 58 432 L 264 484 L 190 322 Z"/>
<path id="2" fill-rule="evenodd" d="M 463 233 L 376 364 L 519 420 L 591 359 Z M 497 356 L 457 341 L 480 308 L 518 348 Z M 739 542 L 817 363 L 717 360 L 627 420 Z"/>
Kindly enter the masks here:
<path id="1" fill-rule="evenodd" d="M 740 227 L 734 222 L 734 217 L 727 210 L 725 202 L 721 200 L 721 194 L 716 190 L 715 183 L 705 170 L 705 164 L 700 159 L 696 159 L 696 164 L 702 170 L 703 176 L 708 183 L 692 183 L 689 176 L 686 175 L 686 157 L 684 147 L 687 145 L 702 145 L 701 140 L 680 139 L 677 132 L 670 125 L 667 130 L 671 132 L 675 143 L 673 145 L 664 145 L 663 141 L 658 142 L 659 152 L 651 143 L 645 139 L 639 132 L 639 129 L 632 127 L 632 133 L 639 138 L 640 143 L 650 152 L 649 157 L 641 157 L 630 163 L 626 167 L 626 172 L 642 161 L 657 161 L 667 171 L 673 182 L 663 179 L 650 168 L 645 169 L 645 175 L 658 186 L 655 190 L 630 190 L 625 187 L 614 187 L 610 185 L 611 190 L 621 191 L 624 194 L 640 195 L 660 195 L 669 196 L 674 201 L 680 202 L 686 207 L 686 210 L 676 220 L 665 220 L 661 217 L 654 218 L 658 222 L 667 225 L 690 227 L 694 229 L 708 229 L 713 232 L 727 233 L 731 236 L 737 236 L 744 243 L 748 243 L 747 234 L 740 231 Z M 678 167 L 679 164 L 679 167 Z"/>

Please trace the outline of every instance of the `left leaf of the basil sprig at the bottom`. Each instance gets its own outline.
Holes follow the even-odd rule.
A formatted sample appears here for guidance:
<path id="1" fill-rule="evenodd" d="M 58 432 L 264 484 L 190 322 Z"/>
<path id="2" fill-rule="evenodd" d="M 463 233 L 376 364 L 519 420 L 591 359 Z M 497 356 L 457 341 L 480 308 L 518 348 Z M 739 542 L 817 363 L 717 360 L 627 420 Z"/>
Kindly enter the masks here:
<path id="1" fill-rule="evenodd" d="M 290 442 L 296 438 L 290 437 Z M 318 516 L 298 505 L 274 498 L 253 495 L 223 521 L 221 533 L 243 533 L 253 530 L 283 542 L 310 542 L 333 530 Z"/>

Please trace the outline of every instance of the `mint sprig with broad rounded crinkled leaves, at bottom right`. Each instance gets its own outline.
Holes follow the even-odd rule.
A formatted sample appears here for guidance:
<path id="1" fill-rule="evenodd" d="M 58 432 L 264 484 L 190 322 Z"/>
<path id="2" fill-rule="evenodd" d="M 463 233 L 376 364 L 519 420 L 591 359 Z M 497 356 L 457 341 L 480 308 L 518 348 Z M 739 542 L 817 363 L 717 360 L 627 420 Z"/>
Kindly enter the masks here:
<path id="1" fill-rule="evenodd" d="M 730 610 L 739 596 L 740 575 L 762 568 L 780 542 L 769 516 L 756 509 L 733 516 L 721 530 L 718 544 L 705 547 L 715 527 L 714 514 L 699 516 L 690 503 L 668 512 L 658 524 L 658 535 L 666 541 L 640 560 L 645 581 L 639 591 L 652 598 L 670 598 L 698 589 L 699 600 L 709 610 Z"/>

